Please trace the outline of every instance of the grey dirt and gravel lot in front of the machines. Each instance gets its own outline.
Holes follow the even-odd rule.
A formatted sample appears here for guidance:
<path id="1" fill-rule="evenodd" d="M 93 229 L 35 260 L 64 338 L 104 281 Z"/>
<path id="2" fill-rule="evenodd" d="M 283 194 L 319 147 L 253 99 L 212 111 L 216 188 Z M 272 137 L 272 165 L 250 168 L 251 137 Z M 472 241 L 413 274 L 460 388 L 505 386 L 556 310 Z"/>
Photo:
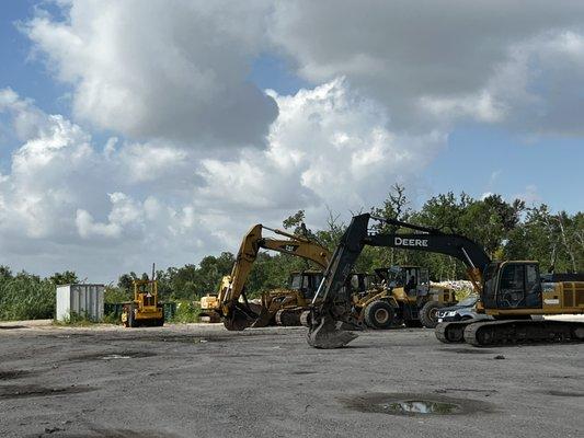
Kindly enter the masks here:
<path id="1" fill-rule="evenodd" d="M 436 413 L 403 414 L 414 401 Z M 410 328 L 317 350 L 304 327 L 1 324 L 0 413 L 1 437 L 582 437 L 584 344 Z"/>

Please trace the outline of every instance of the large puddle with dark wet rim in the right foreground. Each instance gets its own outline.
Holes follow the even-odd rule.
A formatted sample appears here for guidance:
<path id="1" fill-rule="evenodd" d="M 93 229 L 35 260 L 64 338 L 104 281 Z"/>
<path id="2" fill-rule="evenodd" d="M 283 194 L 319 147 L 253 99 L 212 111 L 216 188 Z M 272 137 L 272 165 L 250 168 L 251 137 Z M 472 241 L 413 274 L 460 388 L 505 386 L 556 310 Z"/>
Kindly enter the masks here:
<path id="1" fill-rule="evenodd" d="M 468 415 L 493 411 L 490 403 L 437 394 L 365 394 L 344 399 L 354 411 L 389 415 Z"/>

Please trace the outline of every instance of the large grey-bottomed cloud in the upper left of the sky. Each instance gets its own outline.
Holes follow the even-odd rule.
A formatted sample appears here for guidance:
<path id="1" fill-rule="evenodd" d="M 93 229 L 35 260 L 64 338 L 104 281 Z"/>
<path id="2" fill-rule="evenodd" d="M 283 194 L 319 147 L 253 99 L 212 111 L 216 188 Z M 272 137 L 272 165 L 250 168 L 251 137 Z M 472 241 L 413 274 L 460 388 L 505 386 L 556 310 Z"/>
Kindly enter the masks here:
<path id="1" fill-rule="evenodd" d="M 263 145 L 274 101 L 247 81 L 265 1 L 71 1 L 67 19 L 24 26 L 73 111 L 134 138 Z"/>

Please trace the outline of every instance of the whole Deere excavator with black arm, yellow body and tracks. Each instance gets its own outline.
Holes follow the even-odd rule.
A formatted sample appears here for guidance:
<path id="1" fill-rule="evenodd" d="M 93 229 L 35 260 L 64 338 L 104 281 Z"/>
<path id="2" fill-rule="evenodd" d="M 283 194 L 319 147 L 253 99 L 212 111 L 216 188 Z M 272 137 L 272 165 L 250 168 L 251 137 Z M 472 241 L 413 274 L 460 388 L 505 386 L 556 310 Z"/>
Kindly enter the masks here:
<path id="1" fill-rule="evenodd" d="M 406 228 L 412 233 L 383 234 L 369 231 L 369 220 Z M 436 337 L 445 343 L 467 342 L 474 346 L 514 343 L 584 342 L 584 323 L 531 320 L 531 315 L 584 313 L 584 275 L 540 275 L 538 262 L 493 262 L 472 240 L 439 230 L 393 219 L 358 215 L 343 234 L 324 280 L 310 309 L 308 343 L 317 348 L 337 348 L 348 344 L 354 333 L 343 324 L 358 327 L 351 302 L 340 299 L 346 276 L 365 245 L 425 251 L 456 257 L 468 267 L 468 275 L 480 297 L 477 310 L 495 321 L 440 323 Z"/>

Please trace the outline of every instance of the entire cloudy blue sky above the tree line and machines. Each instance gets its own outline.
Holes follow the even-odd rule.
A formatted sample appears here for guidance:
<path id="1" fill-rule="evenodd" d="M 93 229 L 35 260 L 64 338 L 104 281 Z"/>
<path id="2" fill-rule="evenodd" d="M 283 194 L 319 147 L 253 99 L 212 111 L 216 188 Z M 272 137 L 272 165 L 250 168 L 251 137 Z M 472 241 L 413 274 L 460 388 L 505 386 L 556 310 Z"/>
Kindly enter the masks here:
<path id="1" fill-rule="evenodd" d="M 0 264 L 98 283 L 299 209 L 584 207 L 584 3 L 0 2 Z"/>

